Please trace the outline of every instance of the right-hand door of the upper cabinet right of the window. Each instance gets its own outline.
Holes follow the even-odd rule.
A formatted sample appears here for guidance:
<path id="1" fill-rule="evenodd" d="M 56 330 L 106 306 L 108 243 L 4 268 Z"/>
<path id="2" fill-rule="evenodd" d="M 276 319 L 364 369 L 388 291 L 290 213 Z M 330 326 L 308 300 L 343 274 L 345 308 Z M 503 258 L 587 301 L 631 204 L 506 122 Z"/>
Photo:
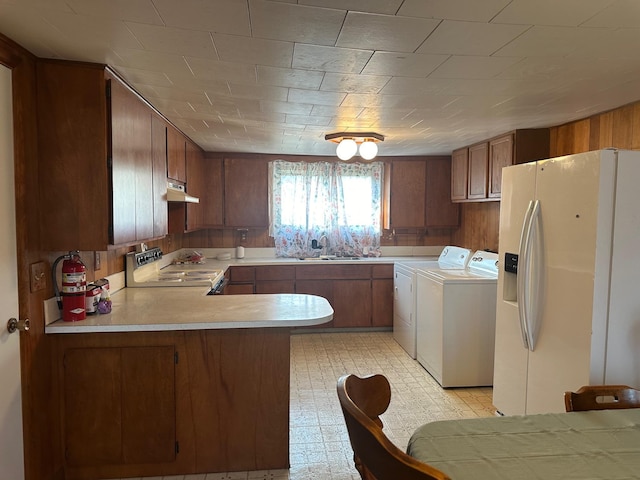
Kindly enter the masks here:
<path id="1" fill-rule="evenodd" d="M 427 160 L 425 227 L 457 227 L 460 205 L 451 201 L 451 160 L 432 157 Z"/>

